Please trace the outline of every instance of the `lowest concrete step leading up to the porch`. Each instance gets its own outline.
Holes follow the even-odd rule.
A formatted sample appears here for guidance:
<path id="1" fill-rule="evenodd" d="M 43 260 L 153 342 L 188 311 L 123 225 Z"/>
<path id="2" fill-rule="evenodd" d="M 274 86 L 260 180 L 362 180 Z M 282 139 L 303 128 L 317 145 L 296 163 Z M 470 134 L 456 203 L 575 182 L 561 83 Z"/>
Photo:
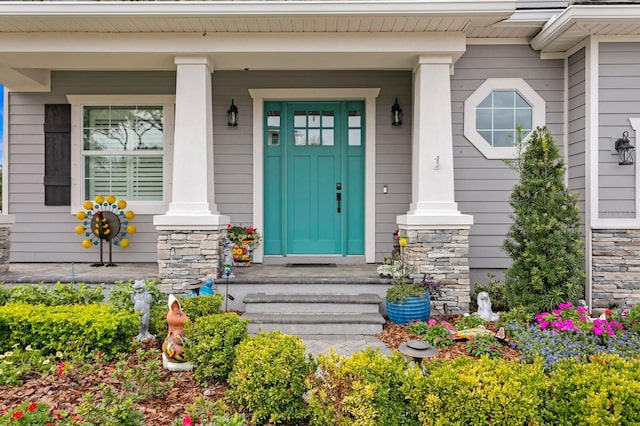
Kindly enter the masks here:
<path id="1" fill-rule="evenodd" d="M 362 314 L 258 314 L 244 313 L 249 333 L 272 330 L 293 335 L 374 335 L 385 323 L 379 313 Z"/>

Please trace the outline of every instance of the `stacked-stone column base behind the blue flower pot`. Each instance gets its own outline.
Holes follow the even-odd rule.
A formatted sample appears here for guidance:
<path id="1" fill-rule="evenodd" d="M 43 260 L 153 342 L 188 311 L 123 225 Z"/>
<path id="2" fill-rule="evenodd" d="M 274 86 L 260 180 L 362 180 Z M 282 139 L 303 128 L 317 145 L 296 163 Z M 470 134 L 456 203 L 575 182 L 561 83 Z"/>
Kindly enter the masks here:
<path id="1" fill-rule="evenodd" d="M 405 262 L 416 268 L 414 277 L 433 276 L 442 283 L 443 296 L 434 301 L 431 315 L 469 312 L 469 228 L 401 229 L 407 237 Z"/>

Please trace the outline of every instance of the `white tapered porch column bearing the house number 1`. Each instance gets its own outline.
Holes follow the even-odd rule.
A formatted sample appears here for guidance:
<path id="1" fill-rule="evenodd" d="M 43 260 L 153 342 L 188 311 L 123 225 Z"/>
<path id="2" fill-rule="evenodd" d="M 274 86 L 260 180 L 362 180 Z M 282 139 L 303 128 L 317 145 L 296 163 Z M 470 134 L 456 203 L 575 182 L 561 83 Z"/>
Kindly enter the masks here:
<path id="1" fill-rule="evenodd" d="M 414 68 L 412 196 L 399 225 L 470 225 L 454 201 L 451 56 L 421 56 Z"/>

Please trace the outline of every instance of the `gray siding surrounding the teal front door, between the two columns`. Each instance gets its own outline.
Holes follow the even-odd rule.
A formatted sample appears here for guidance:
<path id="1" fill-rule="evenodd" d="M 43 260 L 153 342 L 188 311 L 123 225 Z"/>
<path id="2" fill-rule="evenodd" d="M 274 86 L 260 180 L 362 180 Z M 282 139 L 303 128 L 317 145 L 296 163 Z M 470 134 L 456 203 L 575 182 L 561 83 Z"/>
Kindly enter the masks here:
<path id="1" fill-rule="evenodd" d="M 244 225 L 253 223 L 252 164 L 256 161 L 249 89 L 380 88 L 376 100 L 376 259 L 391 254 L 396 216 L 405 214 L 411 203 L 410 71 L 221 71 L 213 74 L 212 82 L 216 203 L 233 224 Z M 403 109 L 400 127 L 391 125 L 396 97 Z M 232 98 L 239 110 L 238 127 L 226 126 Z M 387 194 L 383 194 L 385 184 Z"/>

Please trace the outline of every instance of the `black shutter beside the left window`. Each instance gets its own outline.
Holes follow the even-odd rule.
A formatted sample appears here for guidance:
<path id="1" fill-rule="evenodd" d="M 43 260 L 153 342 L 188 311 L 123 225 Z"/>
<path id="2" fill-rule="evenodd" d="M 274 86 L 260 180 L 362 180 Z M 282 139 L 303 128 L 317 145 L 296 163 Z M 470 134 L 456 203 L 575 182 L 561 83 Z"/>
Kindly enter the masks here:
<path id="1" fill-rule="evenodd" d="M 44 204 L 71 205 L 71 105 L 44 106 Z"/>

